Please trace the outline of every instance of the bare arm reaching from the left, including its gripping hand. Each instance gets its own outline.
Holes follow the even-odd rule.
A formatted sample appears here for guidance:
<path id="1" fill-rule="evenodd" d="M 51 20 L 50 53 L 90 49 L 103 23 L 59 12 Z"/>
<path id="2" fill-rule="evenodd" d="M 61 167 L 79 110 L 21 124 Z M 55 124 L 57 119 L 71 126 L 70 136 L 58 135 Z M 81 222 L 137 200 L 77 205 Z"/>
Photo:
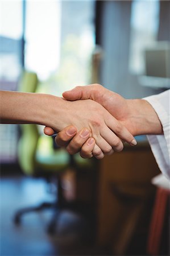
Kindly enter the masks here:
<path id="1" fill-rule="evenodd" d="M 79 131 L 88 128 L 96 140 L 96 151 L 112 151 L 115 144 L 118 151 L 123 148 L 122 141 L 113 133 L 119 133 L 120 125 L 97 102 L 65 101 L 49 94 L 1 92 L 1 123 L 37 123 L 51 127 L 56 132 L 73 125 Z M 123 134 L 132 141 L 132 135 L 121 126 Z"/>

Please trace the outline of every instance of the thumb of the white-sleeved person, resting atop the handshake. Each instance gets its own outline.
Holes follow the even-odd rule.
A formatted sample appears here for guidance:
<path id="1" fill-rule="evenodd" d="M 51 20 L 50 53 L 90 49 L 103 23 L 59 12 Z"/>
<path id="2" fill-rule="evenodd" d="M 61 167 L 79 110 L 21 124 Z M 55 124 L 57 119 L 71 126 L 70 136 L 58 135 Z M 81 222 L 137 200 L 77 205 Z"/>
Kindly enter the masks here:
<path id="1" fill-rule="evenodd" d="M 75 101 L 75 100 L 93 100 L 93 86 L 94 85 L 86 85 L 86 86 L 77 86 L 72 90 L 68 90 L 63 93 L 63 97 L 65 100 Z"/>

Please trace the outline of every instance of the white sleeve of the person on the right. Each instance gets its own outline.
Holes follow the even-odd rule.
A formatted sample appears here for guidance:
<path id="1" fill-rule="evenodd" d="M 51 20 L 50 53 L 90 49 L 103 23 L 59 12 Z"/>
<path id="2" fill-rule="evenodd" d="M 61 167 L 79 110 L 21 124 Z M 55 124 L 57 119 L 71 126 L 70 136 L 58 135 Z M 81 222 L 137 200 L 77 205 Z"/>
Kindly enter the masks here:
<path id="1" fill-rule="evenodd" d="M 151 150 L 155 156 L 160 171 L 170 179 L 170 115 L 169 115 L 170 90 L 163 93 L 143 98 L 148 101 L 157 113 L 163 135 L 147 135 Z"/>

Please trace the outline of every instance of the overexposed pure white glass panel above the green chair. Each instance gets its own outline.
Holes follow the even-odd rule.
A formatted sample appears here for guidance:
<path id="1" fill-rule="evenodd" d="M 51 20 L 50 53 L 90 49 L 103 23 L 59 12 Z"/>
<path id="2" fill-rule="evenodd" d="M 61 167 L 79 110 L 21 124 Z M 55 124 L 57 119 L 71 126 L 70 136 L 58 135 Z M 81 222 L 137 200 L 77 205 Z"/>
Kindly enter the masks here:
<path id="1" fill-rule="evenodd" d="M 59 66 L 60 1 L 26 2 L 25 67 L 44 80 Z"/>

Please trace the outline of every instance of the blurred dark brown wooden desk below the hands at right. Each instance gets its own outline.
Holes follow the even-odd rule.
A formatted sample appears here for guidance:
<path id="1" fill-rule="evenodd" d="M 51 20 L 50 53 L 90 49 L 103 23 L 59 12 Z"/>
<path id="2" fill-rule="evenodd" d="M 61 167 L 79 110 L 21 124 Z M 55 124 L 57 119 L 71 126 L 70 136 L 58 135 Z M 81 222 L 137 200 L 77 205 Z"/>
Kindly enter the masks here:
<path id="1" fill-rule="evenodd" d="M 98 232 L 100 245 L 112 245 L 115 255 L 125 255 L 128 243 L 148 198 L 151 178 L 159 168 L 148 142 L 126 146 L 100 162 L 98 184 Z"/>

